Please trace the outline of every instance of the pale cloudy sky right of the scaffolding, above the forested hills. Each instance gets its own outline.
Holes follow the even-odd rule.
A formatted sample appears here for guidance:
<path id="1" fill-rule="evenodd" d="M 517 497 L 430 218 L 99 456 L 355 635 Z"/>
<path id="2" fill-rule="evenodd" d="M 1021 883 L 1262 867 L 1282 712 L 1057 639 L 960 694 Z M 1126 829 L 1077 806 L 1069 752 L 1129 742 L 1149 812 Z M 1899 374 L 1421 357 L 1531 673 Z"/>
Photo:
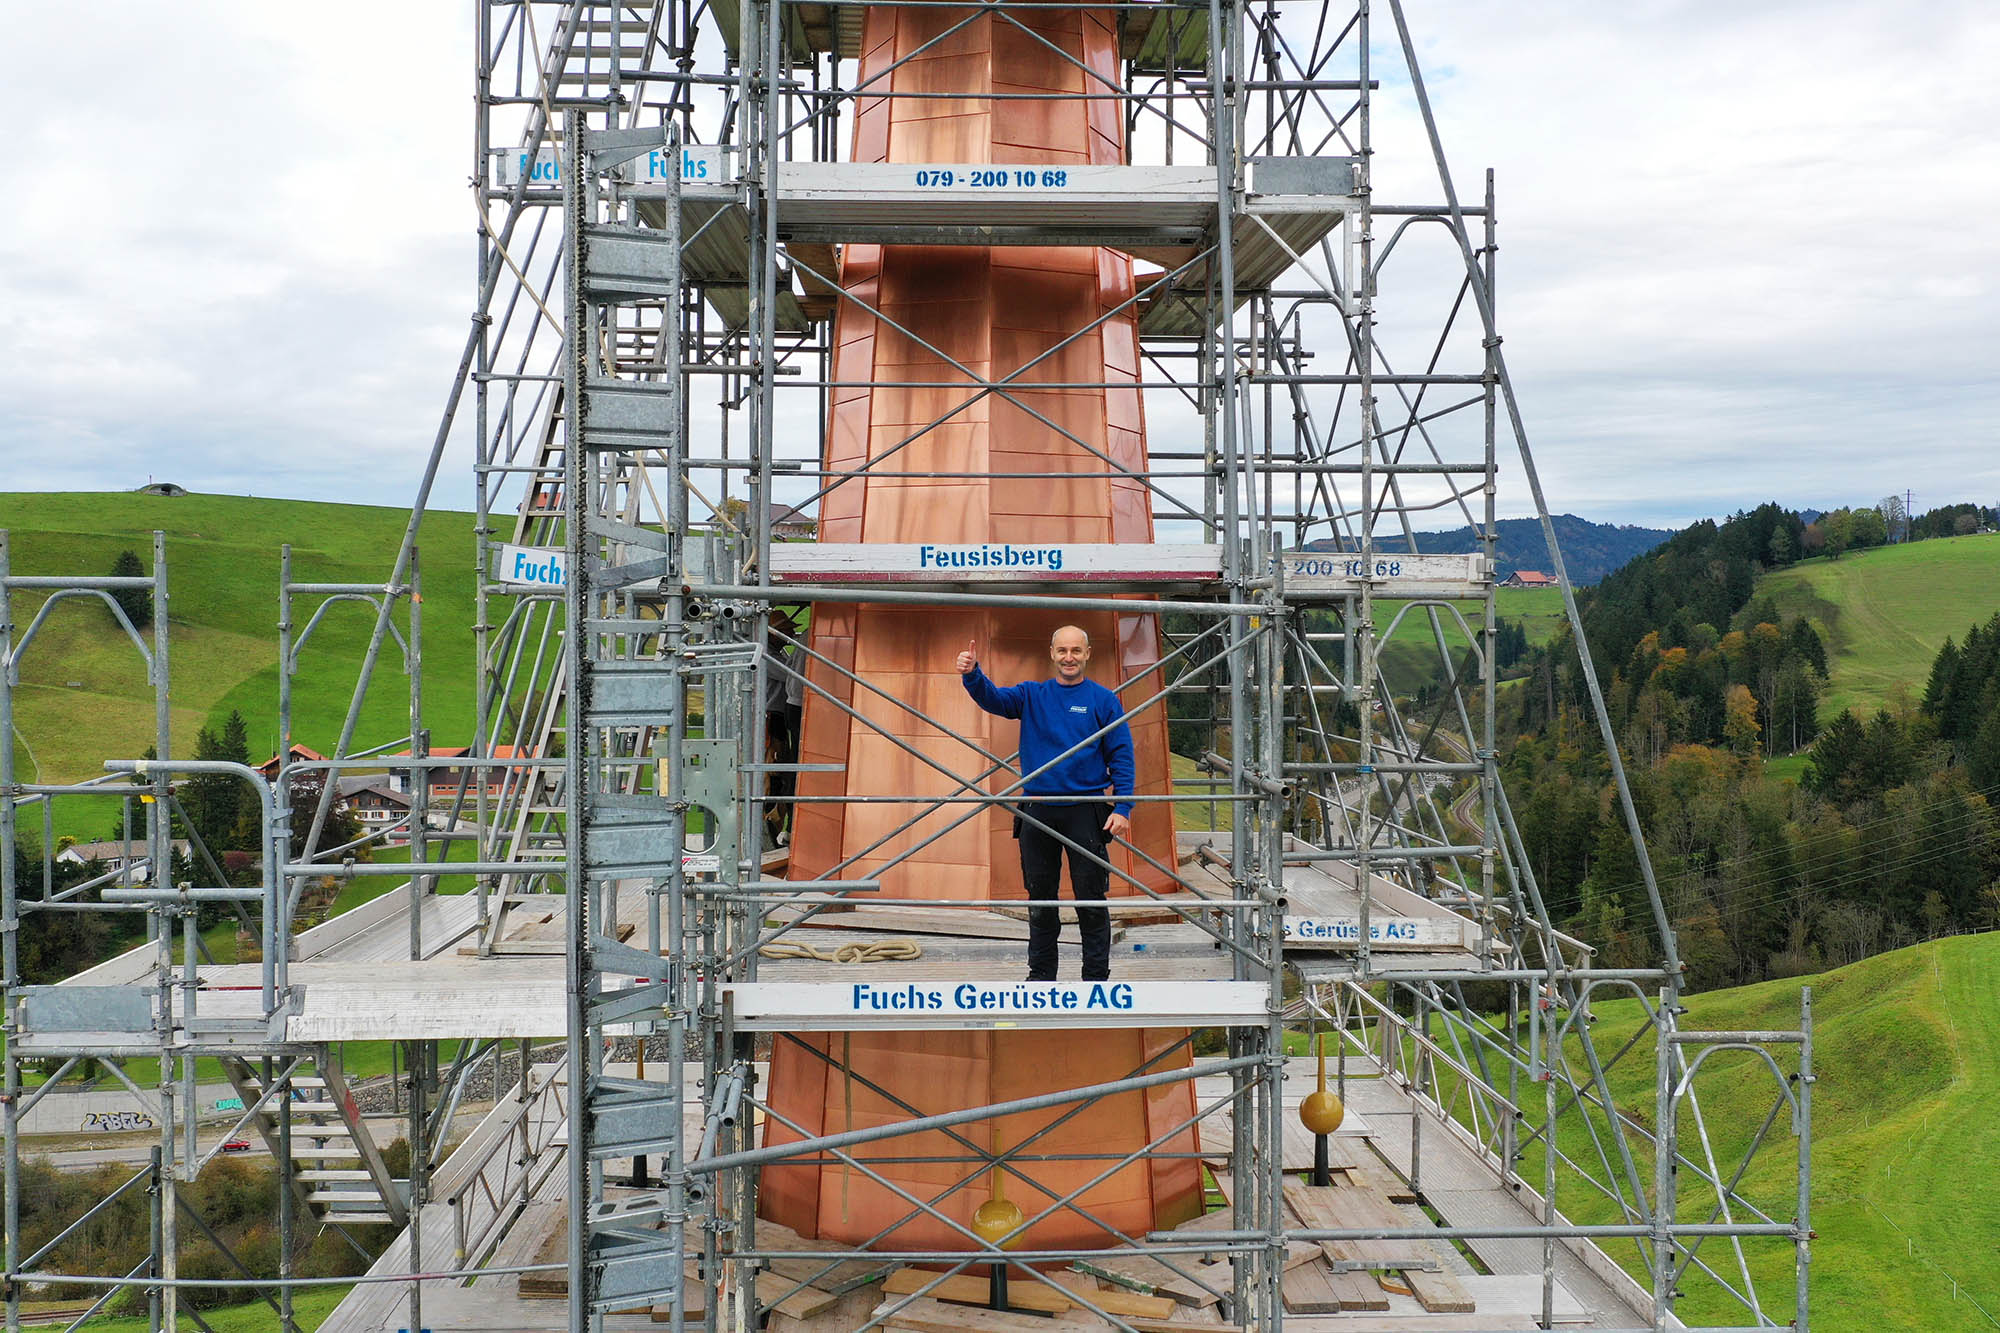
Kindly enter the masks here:
<path id="1" fill-rule="evenodd" d="M 2000 12 L 1412 10 L 1462 186 L 1498 168 L 1502 332 L 1552 502 L 2000 498 Z"/>

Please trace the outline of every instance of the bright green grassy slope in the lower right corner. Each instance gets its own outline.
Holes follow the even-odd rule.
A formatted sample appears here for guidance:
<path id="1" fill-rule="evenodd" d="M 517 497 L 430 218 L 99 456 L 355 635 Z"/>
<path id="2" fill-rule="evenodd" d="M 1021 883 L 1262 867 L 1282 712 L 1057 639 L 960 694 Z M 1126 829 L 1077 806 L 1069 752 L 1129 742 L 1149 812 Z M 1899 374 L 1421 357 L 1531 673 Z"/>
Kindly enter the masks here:
<path id="1" fill-rule="evenodd" d="M 1822 977 L 1814 993 L 1812 1099 L 1812 1327 L 1824 1333 L 1876 1329 L 1992 1329 L 1974 1301 L 2000 1317 L 2000 933 L 1968 935 L 1878 955 Z M 1686 1029 L 1794 1029 L 1802 981 L 1772 981 L 1686 1001 Z M 1638 1023 L 1632 1003 L 1598 1005 L 1598 1051 L 1618 1051 Z M 1652 1039 L 1614 1071 L 1620 1105 L 1652 1121 Z M 1748 1055 L 1704 1065 L 1702 1111 L 1728 1173 L 1776 1097 Z M 1794 1215 L 1796 1153 L 1778 1119 L 1744 1193 L 1776 1219 Z M 1682 1147 L 1700 1161 L 1700 1141 L 1682 1113 Z M 1570 1143 L 1582 1145 L 1584 1131 Z M 1574 1151 L 1574 1149 L 1572 1149 Z M 1644 1167 L 1650 1179 L 1650 1165 Z M 1528 1171 L 1540 1179 L 1540 1163 Z M 1706 1221 L 1708 1203 L 1682 1177 L 1684 1221 Z M 1568 1197 L 1568 1191 L 1566 1191 Z M 1582 1201 L 1582 1195 L 1574 1195 Z M 1608 1211 L 1572 1217 L 1614 1221 Z M 1712 1243 L 1714 1245 L 1714 1243 Z M 1786 1289 L 1790 1245 L 1746 1245 L 1766 1289 Z M 1612 1247 L 1632 1265 L 1632 1249 Z M 1704 1259 L 1734 1273 L 1724 1249 Z M 1954 1297 L 1954 1283 L 1958 1295 Z M 1708 1295 L 1698 1295 L 1702 1289 Z M 1690 1323 L 1732 1313 L 1712 1285 L 1684 1283 Z M 1734 1309 L 1740 1315 L 1740 1309 Z M 1780 1319 L 1784 1315 L 1778 1315 Z M 1738 1319 L 1728 1319 L 1736 1323 Z"/>

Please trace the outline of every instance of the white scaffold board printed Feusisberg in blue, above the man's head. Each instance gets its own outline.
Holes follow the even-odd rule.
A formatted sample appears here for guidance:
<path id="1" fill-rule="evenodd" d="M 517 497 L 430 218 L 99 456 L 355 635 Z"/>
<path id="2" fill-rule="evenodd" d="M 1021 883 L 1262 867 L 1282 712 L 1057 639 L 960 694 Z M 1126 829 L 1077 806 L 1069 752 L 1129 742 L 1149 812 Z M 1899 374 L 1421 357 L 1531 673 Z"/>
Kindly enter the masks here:
<path id="1" fill-rule="evenodd" d="M 784 542 L 780 582 L 1208 582 L 1216 546 L 1118 542 Z"/>

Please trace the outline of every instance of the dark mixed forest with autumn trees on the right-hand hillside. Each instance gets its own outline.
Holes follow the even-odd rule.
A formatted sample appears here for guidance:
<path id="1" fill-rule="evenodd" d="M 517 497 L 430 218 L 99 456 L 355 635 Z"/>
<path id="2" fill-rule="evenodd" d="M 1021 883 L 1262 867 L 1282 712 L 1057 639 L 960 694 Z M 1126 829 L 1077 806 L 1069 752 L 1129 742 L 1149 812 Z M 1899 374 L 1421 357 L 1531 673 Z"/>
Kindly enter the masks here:
<path id="1" fill-rule="evenodd" d="M 1774 556 L 1812 548 L 1814 528 L 1852 548 L 1852 526 L 1766 504 L 1694 524 L 1584 594 L 1694 987 L 1812 973 L 2000 925 L 2000 616 L 1944 644 L 1920 703 L 1822 727 L 1824 642 L 1808 620 L 1754 598 Z M 1656 961 L 1574 644 L 1562 638 L 1530 658 L 1528 679 L 1502 697 L 1504 781 L 1538 887 L 1600 961 Z M 1766 775 L 1766 757 L 1800 751 L 1800 781 Z"/>

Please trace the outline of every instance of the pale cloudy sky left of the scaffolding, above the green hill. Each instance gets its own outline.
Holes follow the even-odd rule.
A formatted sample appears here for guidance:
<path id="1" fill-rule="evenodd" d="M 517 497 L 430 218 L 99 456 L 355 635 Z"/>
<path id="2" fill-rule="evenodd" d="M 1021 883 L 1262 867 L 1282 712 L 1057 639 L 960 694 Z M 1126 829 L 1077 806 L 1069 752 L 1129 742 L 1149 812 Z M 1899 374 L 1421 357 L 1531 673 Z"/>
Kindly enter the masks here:
<path id="1" fill-rule="evenodd" d="M 470 308 L 460 8 L 10 14 L 10 488 L 410 494 Z"/>

